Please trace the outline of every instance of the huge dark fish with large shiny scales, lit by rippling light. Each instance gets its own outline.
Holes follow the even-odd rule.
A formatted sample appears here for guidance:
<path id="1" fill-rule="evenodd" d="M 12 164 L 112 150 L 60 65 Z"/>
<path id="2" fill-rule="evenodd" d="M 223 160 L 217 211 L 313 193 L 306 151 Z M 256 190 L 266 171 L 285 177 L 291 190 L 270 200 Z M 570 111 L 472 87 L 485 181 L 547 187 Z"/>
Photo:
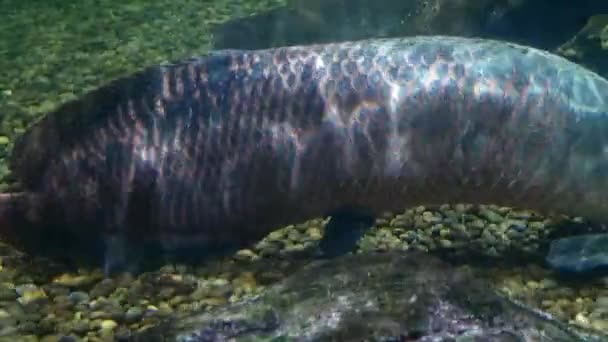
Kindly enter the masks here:
<path id="1" fill-rule="evenodd" d="M 607 112 L 605 79 L 507 42 L 217 51 L 48 114 L 16 143 L 24 193 L 5 217 L 103 236 L 108 260 L 145 241 L 243 246 L 340 208 L 493 203 L 606 222 Z"/>

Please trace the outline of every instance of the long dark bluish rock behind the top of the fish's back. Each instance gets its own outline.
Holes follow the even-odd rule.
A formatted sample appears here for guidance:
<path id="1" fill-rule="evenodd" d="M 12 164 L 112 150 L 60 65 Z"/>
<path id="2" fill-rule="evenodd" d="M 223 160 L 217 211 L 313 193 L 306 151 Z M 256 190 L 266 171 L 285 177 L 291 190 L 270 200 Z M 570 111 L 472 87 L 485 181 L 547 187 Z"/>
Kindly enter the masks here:
<path id="1" fill-rule="evenodd" d="M 597 0 L 291 0 L 218 26 L 214 37 L 216 48 L 242 49 L 447 34 L 553 49 L 606 10 Z"/>

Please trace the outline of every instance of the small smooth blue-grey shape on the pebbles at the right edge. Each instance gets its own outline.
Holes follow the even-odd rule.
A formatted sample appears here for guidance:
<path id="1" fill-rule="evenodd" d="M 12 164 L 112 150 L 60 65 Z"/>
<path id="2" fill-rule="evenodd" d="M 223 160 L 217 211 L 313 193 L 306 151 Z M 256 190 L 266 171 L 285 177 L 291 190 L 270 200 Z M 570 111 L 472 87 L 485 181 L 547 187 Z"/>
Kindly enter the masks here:
<path id="1" fill-rule="evenodd" d="M 551 243 L 547 262 L 560 272 L 604 273 L 608 271 L 608 233 L 557 239 Z"/>

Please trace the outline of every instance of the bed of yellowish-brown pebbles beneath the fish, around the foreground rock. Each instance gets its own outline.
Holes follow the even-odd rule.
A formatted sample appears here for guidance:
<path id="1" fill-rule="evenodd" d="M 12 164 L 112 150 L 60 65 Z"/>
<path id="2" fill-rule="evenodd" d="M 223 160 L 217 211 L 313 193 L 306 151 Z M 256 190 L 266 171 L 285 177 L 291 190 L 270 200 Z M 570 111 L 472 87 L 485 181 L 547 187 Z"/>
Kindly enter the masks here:
<path id="1" fill-rule="evenodd" d="M 437 208 L 417 207 L 396 215 L 386 213 L 376 220 L 373 229 L 360 240 L 356 253 L 360 255 L 328 260 L 325 267 L 335 269 L 323 273 L 320 271 L 323 266 L 316 266 L 316 261 L 315 264 L 309 265 L 312 259 L 306 255 L 307 251 L 316 247 L 323 236 L 326 222 L 324 219 L 316 219 L 279 229 L 251 248 L 243 249 L 230 258 L 209 260 L 197 266 L 171 264 L 137 276 L 120 274 L 105 279 L 99 269 L 69 270 L 63 265 L 23 255 L 9 246 L 2 246 L 0 341 L 128 341 L 142 334 L 152 336 L 150 334 L 158 332 L 158 327 L 167 327 L 167 324 L 171 327 L 163 328 L 167 333 L 187 333 L 190 328 L 194 329 L 190 332 L 194 332 L 197 328 L 203 329 L 205 324 L 213 328 L 213 322 L 205 321 L 205 312 L 218 317 L 219 312 L 229 313 L 239 305 L 264 309 L 264 303 L 267 303 L 264 300 L 272 298 L 272 294 L 280 292 L 280 289 L 283 289 L 281 293 L 292 291 L 290 298 L 297 303 L 302 299 L 302 294 L 298 291 L 310 289 L 315 279 L 317 283 L 325 279 L 321 281 L 321 287 L 335 285 L 334 288 L 343 291 L 347 298 L 354 298 L 348 297 L 348 293 L 357 293 L 356 286 L 369 288 L 373 282 L 361 281 L 354 282 L 352 286 L 344 286 L 346 283 L 339 283 L 339 279 L 334 278 L 334 281 L 338 282 L 334 282 L 334 285 L 327 280 L 331 279 L 331 274 L 340 274 L 337 272 L 340 267 L 342 271 L 348 271 L 348 268 L 344 269 L 344 265 L 349 265 L 348 258 L 360 258 L 354 262 L 354 265 L 361 267 L 360 270 L 366 269 L 363 265 L 372 265 L 366 266 L 371 271 L 385 270 L 386 273 L 378 273 L 377 277 L 387 279 L 387 284 L 390 284 L 389 281 L 407 283 L 412 278 L 405 278 L 406 275 L 418 274 L 414 279 L 420 280 L 422 277 L 426 284 L 433 284 L 437 289 L 451 284 L 454 286 L 448 287 L 463 291 L 455 285 L 469 283 L 466 279 L 482 279 L 483 282 L 491 284 L 492 290 L 476 291 L 471 286 L 465 286 L 463 296 L 457 297 L 469 297 L 473 303 L 480 300 L 480 307 L 483 307 L 484 303 L 487 304 L 484 302 L 487 298 L 493 298 L 490 303 L 516 301 L 526 308 L 519 308 L 517 312 L 524 316 L 522 324 L 528 324 L 531 332 L 542 330 L 538 328 L 539 322 L 549 322 L 549 330 L 566 334 L 564 341 L 575 338 L 569 334 L 577 329 L 591 334 L 608 332 L 608 279 L 600 276 L 564 278 L 543 264 L 548 241 L 556 236 L 580 231 L 583 227 L 580 219 L 542 217 L 524 210 L 464 204 Z M 397 251 L 405 253 L 388 253 Z M 378 256 L 373 252 L 387 253 L 381 254 L 386 256 Z M 444 257 L 444 260 L 449 260 L 454 265 L 448 266 L 430 256 L 428 261 L 420 256 L 410 256 L 411 253 L 423 252 Z M 398 260 L 398 263 L 395 260 Z M 436 271 L 422 272 L 425 265 L 428 265 L 429 269 L 434 267 Z M 299 273 L 298 270 L 303 267 L 304 270 Z M 470 272 L 474 275 L 467 273 L 469 271 L 461 275 L 461 271 L 457 270 L 462 269 L 471 269 Z M 341 274 L 346 278 L 355 279 L 353 277 L 361 275 L 361 272 Z M 324 276 L 326 278 L 323 278 Z M 327 278 L 328 276 L 330 277 Z M 463 282 L 462 279 L 466 281 Z M 309 280 L 308 283 L 306 280 Z M 289 284 L 297 286 L 289 287 Z M 340 284 L 342 287 L 338 286 Z M 411 292 L 412 288 L 389 287 L 385 292 L 392 296 L 385 296 L 384 302 L 379 301 L 379 293 L 382 291 L 373 294 L 376 308 L 370 308 L 367 314 L 374 319 L 365 321 L 378 323 L 383 329 L 388 329 L 381 329 L 381 333 L 389 337 L 390 334 L 386 334 L 386 331 L 397 331 L 406 336 L 410 333 L 413 333 L 413 336 L 423 336 L 422 333 L 431 336 L 428 331 L 421 332 L 419 325 L 401 326 L 394 319 L 393 314 L 399 313 L 394 309 L 403 310 L 404 306 L 400 303 L 403 303 L 407 296 L 411 298 L 417 294 L 422 298 L 418 303 L 422 304 L 432 304 L 433 298 L 443 298 L 429 295 L 434 291 L 432 286 L 417 288 L 421 291 Z M 405 291 L 406 296 L 399 291 Z M 436 294 L 439 293 L 437 291 Z M 262 299 L 257 299 L 257 302 L 250 300 L 257 295 Z M 494 295 L 496 297 L 493 297 Z M 336 298 L 333 302 L 327 297 L 319 298 L 325 298 L 321 302 L 330 306 L 338 303 Z M 305 309 L 306 305 L 311 307 L 311 303 L 314 303 L 312 299 L 302 300 L 302 309 Z M 382 310 L 377 309 L 380 304 L 383 305 Z M 448 316 L 462 315 L 470 308 L 465 307 L 466 310 L 462 311 L 462 305 L 450 305 L 445 311 Z M 453 310 L 455 307 L 460 311 Z M 327 310 L 328 306 L 315 306 L 317 310 L 324 308 Z M 388 311 L 384 311 L 384 308 Z M 549 321 L 538 320 L 539 316 L 534 314 L 533 310 L 540 310 L 552 318 Z M 275 314 L 277 317 L 285 317 L 280 316 L 280 311 Z M 504 312 L 494 314 L 497 317 L 506 317 Z M 289 317 L 294 320 L 301 316 Z M 490 329 L 483 317 L 469 322 L 469 326 L 478 326 L 480 329 L 486 327 L 481 330 L 488 334 L 504 333 L 505 338 L 511 336 L 510 331 L 514 330 L 515 323 L 508 320 L 499 321 L 505 322 L 502 332 Z M 182 323 L 175 324 L 176 322 Z M 188 326 L 188 322 L 198 325 Z M 266 330 L 273 328 L 275 332 L 283 334 L 288 331 L 285 325 L 277 323 L 284 321 L 263 322 L 274 322 L 274 325 L 267 326 Z M 314 323 L 315 320 L 312 319 L 311 322 Z M 348 324 L 357 322 L 360 322 L 360 317 L 347 321 Z M 401 321 L 403 322 L 419 321 Z M 241 328 L 252 327 L 251 321 L 247 323 L 241 319 L 237 323 L 244 324 Z M 238 330 L 239 324 L 233 324 L 232 327 Z M 229 332 L 230 326 L 225 326 L 228 330 L 224 331 Z M 290 327 L 298 329 L 297 325 L 292 324 Z M 459 330 L 457 326 L 442 327 L 438 329 L 448 333 Z M 337 328 L 334 330 L 339 331 Z M 213 329 L 206 331 L 214 332 Z M 517 341 L 505 339 L 507 340 Z"/>

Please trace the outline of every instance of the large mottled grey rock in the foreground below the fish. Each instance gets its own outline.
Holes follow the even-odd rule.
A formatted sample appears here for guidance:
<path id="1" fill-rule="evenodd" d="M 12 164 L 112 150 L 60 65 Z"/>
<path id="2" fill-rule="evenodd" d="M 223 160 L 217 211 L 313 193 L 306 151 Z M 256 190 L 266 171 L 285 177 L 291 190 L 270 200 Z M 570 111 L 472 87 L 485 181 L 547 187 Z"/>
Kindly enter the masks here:
<path id="1" fill-rule="evenodd" d="M 498 295 L 469 268 L 422 253 L 315 262 L 258 297 L 169 321 L 140 339 L 161 336 L 183 342 L 581 340 L 580 332 Z"/>

